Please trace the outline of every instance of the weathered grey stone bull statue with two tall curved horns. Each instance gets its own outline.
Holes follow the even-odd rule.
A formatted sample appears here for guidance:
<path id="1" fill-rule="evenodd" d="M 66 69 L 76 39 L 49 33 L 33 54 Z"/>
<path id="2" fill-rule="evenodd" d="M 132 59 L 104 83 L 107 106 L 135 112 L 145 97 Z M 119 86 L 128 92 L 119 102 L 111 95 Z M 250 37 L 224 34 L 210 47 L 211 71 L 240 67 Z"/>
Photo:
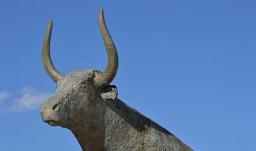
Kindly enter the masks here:
<path id="1" fill-rule="evenodd" d="M 190 151 L 176 136 L 141 115 L 117 98 L 117 88 L 109 85 L 116 76 L 116 46 L 99 11 L 108 63 L 106 69 L 76 70 L 61 74 L 50 59 L 52 21 L 43 41 L 43 66 L 57 84 L 57 91 L 41 105 L 43 122 L 70 129 L 82 150 L 167 150 Z"/>

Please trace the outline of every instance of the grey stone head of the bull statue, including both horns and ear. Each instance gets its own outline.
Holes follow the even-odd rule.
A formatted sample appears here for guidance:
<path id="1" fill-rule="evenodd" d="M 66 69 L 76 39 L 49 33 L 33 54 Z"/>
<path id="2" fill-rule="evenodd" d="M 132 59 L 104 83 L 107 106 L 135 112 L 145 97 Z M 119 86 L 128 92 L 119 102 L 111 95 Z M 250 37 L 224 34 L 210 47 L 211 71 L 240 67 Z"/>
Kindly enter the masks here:
<path id="1" fill-rule="evenodd" d="M 103 72 L 99 70 L 77 70 L 71 72 L 71 74 L 63 75 L 54 67 L 50 59 L 50 36 L 53 23 L 49 20 L 43 42 L 43 66 L 47 70 L 47 74 L 57 84 L 57 91 L 52 98 L 42 105 L 41 114 L 44 122 L 48 122 L 50 125 L 70 125 L 68 123 L 71 118 L 69 117 L 70 112 L 79 112 L 80 114 L 81 112 L 88 112 L 81 111 L 81 105 L 100 98 L 116 98 L 116 91 L 113 90 L 115 87 L 110 88 L 109 83 L 116 76 L 118 56 L 116 46 L 112 42 L 106 27 L 102 9 L 99 12 L 99 26 L 108 53 L 106 70 Z M 110 93 L 107 90 L 110 90 Z M 111 91 L 114 91 L 114 94 L 111 94 Z"/>

